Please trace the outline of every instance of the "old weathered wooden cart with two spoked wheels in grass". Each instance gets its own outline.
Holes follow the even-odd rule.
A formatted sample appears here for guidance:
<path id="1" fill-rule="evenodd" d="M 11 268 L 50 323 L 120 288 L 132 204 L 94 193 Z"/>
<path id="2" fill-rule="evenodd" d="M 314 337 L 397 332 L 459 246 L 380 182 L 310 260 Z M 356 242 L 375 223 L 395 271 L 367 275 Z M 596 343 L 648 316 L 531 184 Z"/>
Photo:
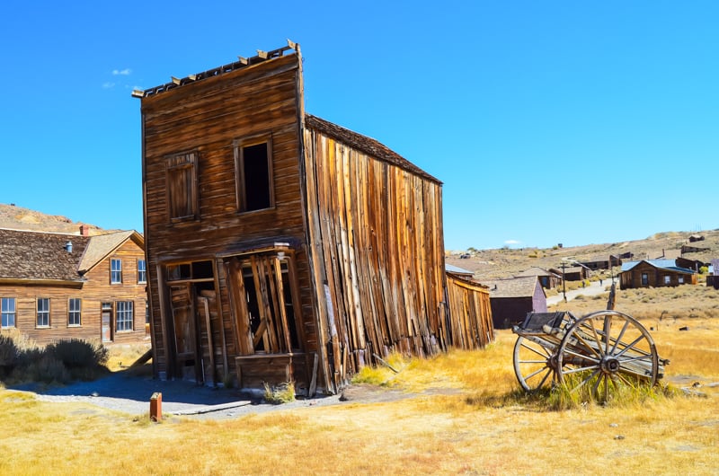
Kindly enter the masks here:
<path id="1" fill-rule="evenodd" d="M 618 311 L 580 318 L 570 312 L 528 313 L 512 331 L 519 336 L 514 372 L 528 392 L 563 384 L 607 401 L 624 385 L 654 385 L 669 364 L 642 323 Z"/>

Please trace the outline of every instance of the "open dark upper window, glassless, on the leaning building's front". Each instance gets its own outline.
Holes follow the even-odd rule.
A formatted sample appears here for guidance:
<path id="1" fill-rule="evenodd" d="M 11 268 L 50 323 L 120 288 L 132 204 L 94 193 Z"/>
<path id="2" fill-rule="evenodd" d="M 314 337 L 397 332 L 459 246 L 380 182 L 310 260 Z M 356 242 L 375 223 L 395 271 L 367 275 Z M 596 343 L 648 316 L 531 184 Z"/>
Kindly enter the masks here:
<path id="1" fill-rule="evenodd" d="M 235 140 L 237 209 L 274 207 L 272 141 L 269 135 Z"/>

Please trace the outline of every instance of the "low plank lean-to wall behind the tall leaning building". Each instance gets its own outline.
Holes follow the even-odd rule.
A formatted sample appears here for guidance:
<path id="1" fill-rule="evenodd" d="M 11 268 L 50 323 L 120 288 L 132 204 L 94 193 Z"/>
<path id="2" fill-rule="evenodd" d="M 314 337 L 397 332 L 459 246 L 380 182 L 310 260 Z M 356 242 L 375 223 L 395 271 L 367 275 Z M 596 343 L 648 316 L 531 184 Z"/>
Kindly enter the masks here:
<path id="1" fill-rule="evenodd" d="M 447 275 L 451 341 L 456 348 L 484 348 L 494 340 L 489 291 L 456 275 Z"/>

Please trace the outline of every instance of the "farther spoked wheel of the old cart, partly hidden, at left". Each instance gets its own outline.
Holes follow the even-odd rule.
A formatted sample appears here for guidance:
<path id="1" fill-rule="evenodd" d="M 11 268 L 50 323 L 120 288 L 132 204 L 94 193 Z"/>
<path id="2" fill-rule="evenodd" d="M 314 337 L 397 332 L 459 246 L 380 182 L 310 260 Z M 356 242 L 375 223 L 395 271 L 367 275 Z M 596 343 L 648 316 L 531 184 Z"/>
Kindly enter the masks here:
<path id="1" fill-rule="evenodd" d="M 524 390 L 535 392 L 556 383 L 554 348 L 519 336 L 514 343 L 514 374 Z"/>

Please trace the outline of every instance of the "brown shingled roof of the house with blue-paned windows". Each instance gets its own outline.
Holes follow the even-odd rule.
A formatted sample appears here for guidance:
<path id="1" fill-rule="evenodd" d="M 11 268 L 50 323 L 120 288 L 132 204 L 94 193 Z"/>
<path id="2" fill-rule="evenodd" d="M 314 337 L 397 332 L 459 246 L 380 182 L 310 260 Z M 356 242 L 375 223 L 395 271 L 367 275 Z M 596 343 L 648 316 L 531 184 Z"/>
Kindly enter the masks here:
<path id="1" fill-rule="evenodd" d="M 81 282 L 87 270 L 131 236 L 143 243 L 134 231 L 81 236 L 0 228 L 0 281 Z"/>

